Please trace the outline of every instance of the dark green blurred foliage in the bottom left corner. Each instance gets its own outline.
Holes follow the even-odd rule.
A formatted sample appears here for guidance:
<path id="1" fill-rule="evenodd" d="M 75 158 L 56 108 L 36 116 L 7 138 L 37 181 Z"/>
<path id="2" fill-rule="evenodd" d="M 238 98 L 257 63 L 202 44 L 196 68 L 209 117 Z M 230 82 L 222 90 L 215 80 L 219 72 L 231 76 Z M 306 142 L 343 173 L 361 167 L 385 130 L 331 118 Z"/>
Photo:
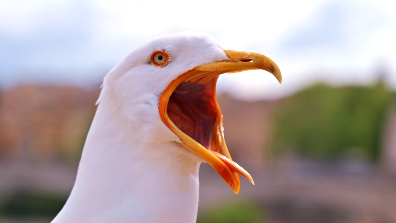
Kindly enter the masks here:
<path id="1" fill-rule="evenodd" d="M 2 199 L 0 215 L 55 217 L 65 205 L 66 198 L 48 194 L 20 192 Z"/>

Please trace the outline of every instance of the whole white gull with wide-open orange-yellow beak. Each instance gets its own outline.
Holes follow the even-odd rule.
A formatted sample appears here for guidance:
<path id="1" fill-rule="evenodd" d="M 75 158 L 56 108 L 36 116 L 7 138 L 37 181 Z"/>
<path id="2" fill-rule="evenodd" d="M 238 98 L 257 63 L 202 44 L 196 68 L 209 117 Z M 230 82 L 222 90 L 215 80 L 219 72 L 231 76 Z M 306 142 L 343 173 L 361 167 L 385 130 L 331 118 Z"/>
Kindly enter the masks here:
<path id="1" fill-rule="evenodd" d="M 223 73 L 276 63 L 224 50 L 206 33 L 154 38 L 104 78 L 70 196 L 52 223 L 193 223 L 198 171 L 209 163 L 238 194 L 239 175 L 223 134 L 216 83 Z M 253 183 L 254 184 L 254 183 Z"/>

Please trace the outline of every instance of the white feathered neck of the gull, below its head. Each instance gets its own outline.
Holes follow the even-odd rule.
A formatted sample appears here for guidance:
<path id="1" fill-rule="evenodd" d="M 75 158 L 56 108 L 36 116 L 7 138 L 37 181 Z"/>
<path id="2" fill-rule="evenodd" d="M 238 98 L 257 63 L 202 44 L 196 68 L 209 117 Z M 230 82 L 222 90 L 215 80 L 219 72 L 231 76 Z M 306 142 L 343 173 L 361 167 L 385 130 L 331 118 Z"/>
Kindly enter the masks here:
<path id="1" fill-rule="evenodd" d="M 52 223 L 196 222 L 200 163 L 177 156 L 178 143 L 143 141 L 133 129 L 101 102 L 70 197 Z"/>

